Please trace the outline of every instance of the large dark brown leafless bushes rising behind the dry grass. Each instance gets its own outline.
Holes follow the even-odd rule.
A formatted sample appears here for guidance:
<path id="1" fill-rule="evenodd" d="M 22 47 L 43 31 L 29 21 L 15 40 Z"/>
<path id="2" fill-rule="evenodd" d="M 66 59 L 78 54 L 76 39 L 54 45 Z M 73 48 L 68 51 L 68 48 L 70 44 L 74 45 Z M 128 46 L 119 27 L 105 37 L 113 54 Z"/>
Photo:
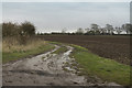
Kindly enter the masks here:
<path id="1" fill-rule="evenodd" d="M 2 23 L 3 41 L 9 38 L 10 44 L 26 44 L 26 42 L 35 35 L 35 26 L 31 22 L 23 22 L 21 24 L 4 22 Z M 15 42 L 13 42 L 15 41 Z"/>

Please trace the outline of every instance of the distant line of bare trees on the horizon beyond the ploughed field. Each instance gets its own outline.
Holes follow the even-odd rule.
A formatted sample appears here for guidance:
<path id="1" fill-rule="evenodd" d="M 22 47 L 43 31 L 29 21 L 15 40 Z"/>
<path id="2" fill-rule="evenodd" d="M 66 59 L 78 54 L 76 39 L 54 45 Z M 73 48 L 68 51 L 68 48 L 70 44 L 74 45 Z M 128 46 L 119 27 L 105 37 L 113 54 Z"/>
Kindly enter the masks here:
<path id="1" fill-rule="evenodd" d="M 91 24 L 90 28 L 87 29 L 77 29 L 76 32 L 68 33 L 66 29 L 62 30 L 62 32 L 52 32 L 52 33 L 37 33 L 37 35 L 51 35 L 51 34 L 67 34 L 67 35 L 114 35 L 114 34 L 131 34 L 132 33 L 132 24 L 127 23 L 122 24 L 122 26 L 113 28 L 110 24 L 106 24 L 105 28 L 99 26 L 98 24 Z"/>

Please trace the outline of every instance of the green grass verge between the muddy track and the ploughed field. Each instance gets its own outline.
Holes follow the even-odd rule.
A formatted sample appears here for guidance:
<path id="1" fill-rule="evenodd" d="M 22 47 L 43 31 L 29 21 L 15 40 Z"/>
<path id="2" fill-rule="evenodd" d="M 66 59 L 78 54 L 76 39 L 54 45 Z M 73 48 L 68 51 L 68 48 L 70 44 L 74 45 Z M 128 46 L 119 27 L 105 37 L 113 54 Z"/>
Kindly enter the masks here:
<path id="1" fill-rule="evenodd" d="M 130 66 L 95 55 L 81 46 L 72 46 L 75 50 L 70 56 L 74 56 L 84 68 L 81 70 L 84 75 L 98 76 L 102 80 L 114 81 L 124 86 L 130 85 Z"/>

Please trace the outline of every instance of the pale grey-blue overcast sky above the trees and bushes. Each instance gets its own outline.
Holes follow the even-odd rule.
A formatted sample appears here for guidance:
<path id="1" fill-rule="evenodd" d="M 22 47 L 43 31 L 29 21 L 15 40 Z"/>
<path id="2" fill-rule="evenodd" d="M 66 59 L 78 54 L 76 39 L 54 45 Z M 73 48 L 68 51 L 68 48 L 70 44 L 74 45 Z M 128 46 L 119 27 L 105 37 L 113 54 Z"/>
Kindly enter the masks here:
<path id="1" fill-rule="evenodd" d="M 3 2 L 3 21 L 34 23 L 38 32 L 75 31 L 91 23 L 130 22 L 129 2 Z"/>

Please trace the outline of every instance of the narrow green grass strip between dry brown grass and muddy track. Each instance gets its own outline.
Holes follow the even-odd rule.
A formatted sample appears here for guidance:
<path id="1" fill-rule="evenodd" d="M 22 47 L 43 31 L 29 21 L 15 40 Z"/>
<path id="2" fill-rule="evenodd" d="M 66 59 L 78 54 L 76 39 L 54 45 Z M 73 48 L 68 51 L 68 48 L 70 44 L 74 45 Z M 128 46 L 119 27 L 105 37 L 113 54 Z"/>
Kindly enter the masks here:
<path id="1" fill-rule="evenodd" d="M 54 45 L 47 43 L 47 44 L 41 45 L 38 47 L 31 48 L 29 51 L 19 51 L 19 52 L 10 52 L 10 53 L 2 52 L 2 63 L 8 63 L 8 62 L 15 61 L 19 58 L 37 55 L 37 54 L 51 51 L 54 47 L 55 47 Z"/>

